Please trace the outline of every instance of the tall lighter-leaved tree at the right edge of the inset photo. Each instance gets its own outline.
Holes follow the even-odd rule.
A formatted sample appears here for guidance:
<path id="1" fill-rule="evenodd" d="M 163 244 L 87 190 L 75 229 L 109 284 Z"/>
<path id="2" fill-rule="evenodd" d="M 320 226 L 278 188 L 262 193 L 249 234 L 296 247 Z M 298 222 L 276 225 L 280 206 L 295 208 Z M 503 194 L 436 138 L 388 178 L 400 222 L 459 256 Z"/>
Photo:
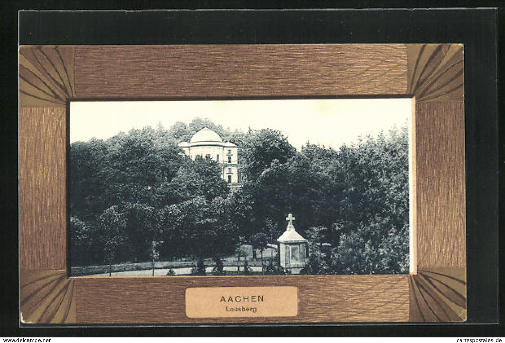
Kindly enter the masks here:
<path id="1" fill-rule="evenodd" d="M 335 273 L 405 273 L 409 249 L 407 128 L 341 149 L 346 221 L 333 250 Z M 354 224 L 352 224 L 354 223 Z"/>

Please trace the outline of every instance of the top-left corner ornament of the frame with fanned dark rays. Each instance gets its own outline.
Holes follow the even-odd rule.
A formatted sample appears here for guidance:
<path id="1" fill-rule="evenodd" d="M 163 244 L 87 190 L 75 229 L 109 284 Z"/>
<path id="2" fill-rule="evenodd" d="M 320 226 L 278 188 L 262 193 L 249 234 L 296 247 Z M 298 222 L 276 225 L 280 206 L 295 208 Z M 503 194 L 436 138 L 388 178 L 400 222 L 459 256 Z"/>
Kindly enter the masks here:
<path id="1" fill-rule="evenodd" d="M 75 96 L 73 46 L 20 46 L 18 56 L 20 106 L 65 106 Z"/>

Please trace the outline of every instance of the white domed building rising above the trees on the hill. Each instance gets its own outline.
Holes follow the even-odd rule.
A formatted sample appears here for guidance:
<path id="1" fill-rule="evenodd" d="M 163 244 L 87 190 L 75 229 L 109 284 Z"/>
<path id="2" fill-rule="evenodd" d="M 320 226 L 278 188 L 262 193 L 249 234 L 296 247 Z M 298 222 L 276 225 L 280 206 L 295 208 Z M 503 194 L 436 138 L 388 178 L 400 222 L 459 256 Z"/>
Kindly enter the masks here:
<path id="1" fill-rule="evenodd" d="M 188 142 L 180 142 L 184 154 L 190 159 L 208 159 L 221 164 L 221 177 L 230 187 L 240 186 L 238 174 L 237 146 L 231 142 L 223 142 L 219 134 L 208 127 L 196 132 Z"/>

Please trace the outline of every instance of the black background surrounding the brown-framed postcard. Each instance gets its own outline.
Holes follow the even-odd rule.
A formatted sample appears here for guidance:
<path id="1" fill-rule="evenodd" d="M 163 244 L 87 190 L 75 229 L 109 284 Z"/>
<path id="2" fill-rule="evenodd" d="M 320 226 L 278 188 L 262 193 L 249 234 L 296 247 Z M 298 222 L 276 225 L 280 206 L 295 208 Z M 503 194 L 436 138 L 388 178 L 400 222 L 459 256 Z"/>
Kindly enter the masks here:
<path id="1" fill-rule="evenodd" d="M 431 4 L 430 4 L 431 3 Z M 447 2 L 446 2 L 447 3 Z M 334 335 L 334 336 L 503 336 L 498 325 L 331 325 L 228 327 L 63 327 L 18 328 L 18 199 L 17 199 L 17 24 L 18 9 L 81 9 L 84 4 L 57 1 L 3 3 L 2 107 L 2 249 L 0 277 L 8 289 L 0 300 L 0 336 L 130 336 L 130 335 Z M 240 3 L 173 2 L 172 8 L 226 8 Z M 479 6 L 498 6 L 488 2 Z M 80 6 L 79 6 L 80 5 Z M 119 6 L 118 6 L 119 5 Z M 144 5 L 144 6 L 141 6 Z M 94 9 L 167 8 L 162 2 L 117 4 L 104 1 Z M 271 8 L 271 3 L 254 3 Z M 426 8 L 440 2 L 334 3 L 332 6 Z M 444 4 L 475 6 L 473 2 Z M 98 7 L 100 6 L 100 7 Z M 298 2 L 279 2 L 277 8 L 304 8 Z M 311 3 L 315 8 L 328 4 Z M 251 4 L 242 4 L 251 8 Z M 499 14 L 499 17 L 498 17 Z M 284 10 L 284 11 L 175 11 L 175 12 L 21 12 L 19 44 L 195 44 L 195 43 L 429 43 L 465 44 L 466 192 L 468 323 L 498 321 L 498 18 L 502 12 L 485 10 Z M 500 46 L 502 46 L 501 40 Z M 502 86 L 501 86 L 502 87 Z M 501 88 L 502 89 L 502 88 Z M 503 101 L 500 100 L 500 105 Z M 501 125 L 503 126 L 503 125 Z M 500 139 L 500 146 L 503 146 Z M 14 167 L 14 168 L 13 168 Z M 500 184 L 504 190 L 503 183 Z M 4 214 L 5 212 L 5 214 Z M 5 223 L 6 225 L 2 225 Z M 501 216 L 503 223 L 503 216 Z"/>

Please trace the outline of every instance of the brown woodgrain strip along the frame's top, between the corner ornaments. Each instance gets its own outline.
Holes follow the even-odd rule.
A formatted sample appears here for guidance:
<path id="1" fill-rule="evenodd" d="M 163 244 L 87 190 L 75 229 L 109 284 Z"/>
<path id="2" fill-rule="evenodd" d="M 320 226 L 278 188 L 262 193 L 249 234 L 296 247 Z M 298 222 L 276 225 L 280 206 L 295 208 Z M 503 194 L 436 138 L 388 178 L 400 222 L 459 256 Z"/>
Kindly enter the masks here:
<path id="1" fill-rule="evenodd" d="M 403 44 L 78 46 L 78 97 L 405 94 Z"/>

